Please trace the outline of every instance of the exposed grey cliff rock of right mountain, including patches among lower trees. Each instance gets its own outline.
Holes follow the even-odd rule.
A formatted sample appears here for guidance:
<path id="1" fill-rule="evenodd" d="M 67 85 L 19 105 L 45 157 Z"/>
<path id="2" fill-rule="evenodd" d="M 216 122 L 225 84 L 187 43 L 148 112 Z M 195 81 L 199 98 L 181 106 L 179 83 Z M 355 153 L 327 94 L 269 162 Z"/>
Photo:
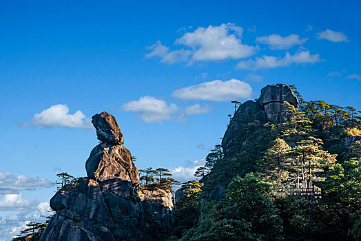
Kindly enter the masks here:
<path id="1" fill-rule="evenodd" d="M 298 99 L 288 85 L 277 84 L 267 85 L 260 91 L 260 97 L 257 101 L 246 101 L 238 107 L 236 113 L 231 119 L 227 131 L 222 139 L 222 148 L 225 158 L 232 158 L 237 154 L 249 151 L 245 149 L 249 147 L 250 142 L 256 138 L 255 133 L 249 135 L 249 132 L 243 132 L 243 129 L 251 129 L 252 127 L 259 127 L 265 123 L 279 124 L 287 120 L 287 113 L 284 101 L 293 105 L 298 109 Z M 246 162 L 247 160 L 243 158 Z M 250 163 L 244 163 L 242 167 L 234 167 L 242 172 Z M 231 168 L 231 167 L 229 167 Z M 225 171 L 225 174 L 223 173 Z M 207 178 L 202 181 L 210 188 L 203 191 L 203 198 L 201 199 L 201 208 L 204 208 L 207 202 L 211 200 L 219 201 L 225 197 L 226 187 L 228 182 L 219 183 L 214 180 L 221 180 L 220 176 L 227 175 L 227 170 L 212 171 Z M 224 178 L 223 178 L 224 179 Z M 226 178 L 227 179 L 227 178 Z M 212 184 L 211 184 L 212 183 Z M 203 216 L 200 216 L 200 221 Z"/>

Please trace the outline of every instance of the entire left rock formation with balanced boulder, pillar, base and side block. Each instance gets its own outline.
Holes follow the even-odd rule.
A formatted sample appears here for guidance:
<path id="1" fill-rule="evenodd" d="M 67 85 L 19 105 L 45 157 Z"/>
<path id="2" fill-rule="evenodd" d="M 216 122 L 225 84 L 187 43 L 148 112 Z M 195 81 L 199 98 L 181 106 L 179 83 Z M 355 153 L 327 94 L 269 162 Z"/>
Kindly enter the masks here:
<path id="1" fill-rule="evenodd" d="M 40 240 L 155 240 L 145 238 L 152 236 L 145 229 L 147 221 L 161 221 L 167 212 L 172 213 L 172 193 L 166 198 L 145 193 L 141 200 L 138 170 L 132 154 L 122 146 L 123 134 L 116 119 L 103 112 L 93 116 L 92 123 L 101 143 L 86 161 L 87 178 L 56 192 L 50 200 L 56 214 Z M 161 214 L 145 220 L 144 209 Z M 166 225 L 171 227 L 172 222 Z"/>

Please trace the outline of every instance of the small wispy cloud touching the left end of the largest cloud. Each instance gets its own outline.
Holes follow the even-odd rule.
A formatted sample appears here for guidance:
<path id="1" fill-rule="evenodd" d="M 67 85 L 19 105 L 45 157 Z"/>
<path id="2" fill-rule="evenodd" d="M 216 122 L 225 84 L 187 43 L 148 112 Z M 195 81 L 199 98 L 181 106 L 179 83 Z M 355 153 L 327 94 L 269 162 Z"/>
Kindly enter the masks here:
<path id="1" fill-rule="evenodd" d="M 180 63 L 186 62 L 189 60 L 189 55 L 192 54 L 190 50 L 174 50 L 169 51 L 169 48 L 161 43 L 161 41 L 156 41 L 154 45 L 151 45 L 146 48 L 147 50 L 152 50 L 149 54 L 145 54 L 147 59 L 154 56 L 161 57 L 162 63 Z"/>

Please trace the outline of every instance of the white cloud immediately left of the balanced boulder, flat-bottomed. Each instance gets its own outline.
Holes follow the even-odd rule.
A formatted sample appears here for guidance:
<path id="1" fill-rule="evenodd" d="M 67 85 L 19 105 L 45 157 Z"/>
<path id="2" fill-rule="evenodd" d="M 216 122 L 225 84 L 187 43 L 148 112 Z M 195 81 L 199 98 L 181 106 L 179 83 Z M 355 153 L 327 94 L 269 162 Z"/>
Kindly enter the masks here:
<path id="1" fill-rule="evenodd" d="M 42 112 L 34 114 L 32 121 L 19 123 L 21 127 L 29 125 L 49 128 L 49 127 L 70 127 L 70 128 L 92 128 L 90 118 L 87 118 L 80 110 L 74 114 L 69 114 L 68 105 L 52 105 Z"/>

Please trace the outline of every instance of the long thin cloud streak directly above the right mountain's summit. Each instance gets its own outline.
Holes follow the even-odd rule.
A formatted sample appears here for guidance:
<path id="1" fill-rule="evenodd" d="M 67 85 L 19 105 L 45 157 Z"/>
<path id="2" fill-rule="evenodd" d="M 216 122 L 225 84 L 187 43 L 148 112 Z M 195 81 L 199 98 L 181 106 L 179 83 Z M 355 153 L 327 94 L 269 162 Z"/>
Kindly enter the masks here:
<path id="1" fill-rule="evenodd" d="M 260 58 L 257 57 L 256 60 L 249 59 L 247 61 L 241 61 L 238 63 L 236 68 L 244 70 L 258 70 L 262 68 L 285 67 L 293 63 L 317 63 L 320 61 L 322 61 L 320 59 L 320 54 L 310 54 L 309 50 L 301 50 L 293 55 L 286 52 L 286 56 L 283 58 L 264 55 Z"/>

